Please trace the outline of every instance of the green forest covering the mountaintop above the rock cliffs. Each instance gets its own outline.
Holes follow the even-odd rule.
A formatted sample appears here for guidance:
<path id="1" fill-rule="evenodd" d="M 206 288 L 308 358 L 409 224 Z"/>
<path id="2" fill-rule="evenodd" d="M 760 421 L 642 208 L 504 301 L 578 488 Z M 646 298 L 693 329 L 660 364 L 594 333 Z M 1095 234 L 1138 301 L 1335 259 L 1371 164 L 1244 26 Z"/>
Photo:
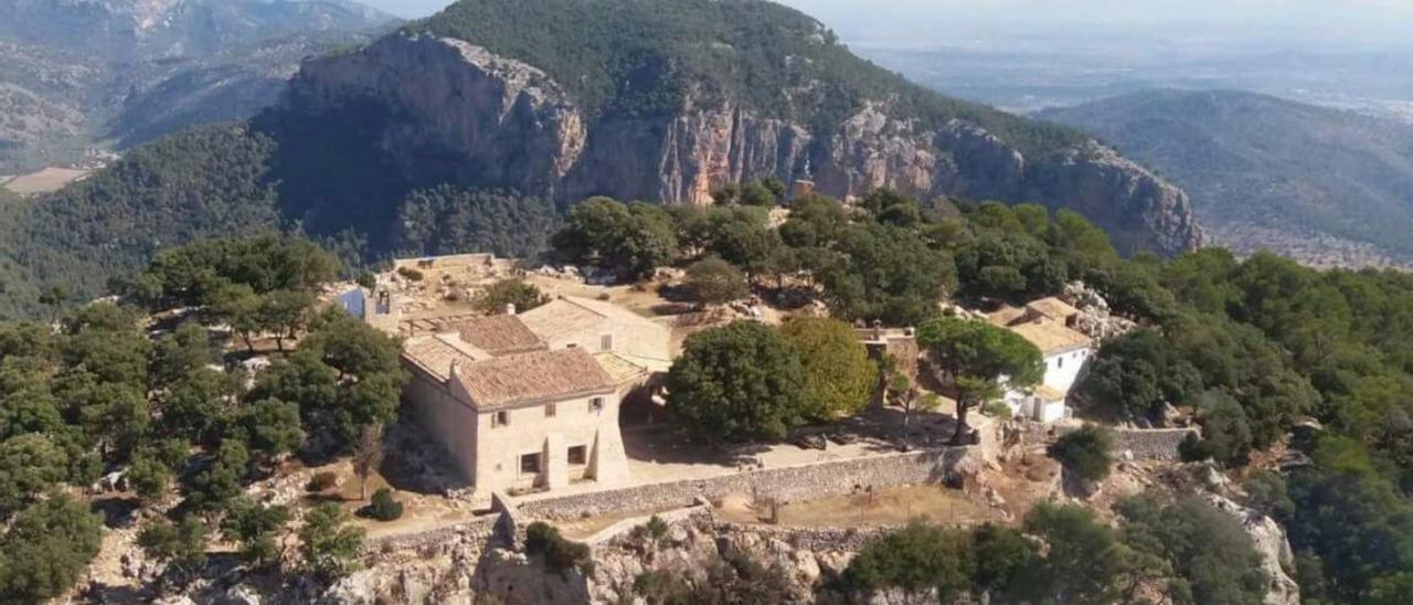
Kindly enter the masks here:
<path id="1" fill-rule="evenodd" d="M 892 99 L 921 129 L 972 122 L 1027 155 L 1084 140 L 914 85 L 855 57 L 814 18 L 769 1 L 459 1 L 407 28 L 534 65 L 592 114 L 675 112 L 692 88 L 704 102 L 731 99 L 811 129 L 832 129 L 866 102 Z"/>

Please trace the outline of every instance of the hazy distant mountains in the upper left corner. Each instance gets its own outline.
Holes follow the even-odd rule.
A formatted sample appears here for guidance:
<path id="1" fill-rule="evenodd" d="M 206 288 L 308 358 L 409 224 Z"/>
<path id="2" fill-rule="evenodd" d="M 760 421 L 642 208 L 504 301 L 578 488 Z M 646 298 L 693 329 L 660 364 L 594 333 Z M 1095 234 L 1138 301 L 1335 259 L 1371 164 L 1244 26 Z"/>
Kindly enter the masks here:
<path id="1" fill-rule="evenodd" d="M 0 0 L 0 174 L 244 119 L 397 20 L 342 0 Z"/>

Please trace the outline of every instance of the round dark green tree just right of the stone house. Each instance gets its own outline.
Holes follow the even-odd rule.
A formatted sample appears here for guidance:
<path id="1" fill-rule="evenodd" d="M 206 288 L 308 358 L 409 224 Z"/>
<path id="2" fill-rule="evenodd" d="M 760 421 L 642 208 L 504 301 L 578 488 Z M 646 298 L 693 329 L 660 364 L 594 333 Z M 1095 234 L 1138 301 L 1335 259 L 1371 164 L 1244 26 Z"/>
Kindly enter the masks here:
<path id="1" fill-rule="evenodd" d="M 752 321 L 688 336 L 667 375 L 667 411 L 706 441 L 783 440 L 811 406 L 796 349 Z"/>

